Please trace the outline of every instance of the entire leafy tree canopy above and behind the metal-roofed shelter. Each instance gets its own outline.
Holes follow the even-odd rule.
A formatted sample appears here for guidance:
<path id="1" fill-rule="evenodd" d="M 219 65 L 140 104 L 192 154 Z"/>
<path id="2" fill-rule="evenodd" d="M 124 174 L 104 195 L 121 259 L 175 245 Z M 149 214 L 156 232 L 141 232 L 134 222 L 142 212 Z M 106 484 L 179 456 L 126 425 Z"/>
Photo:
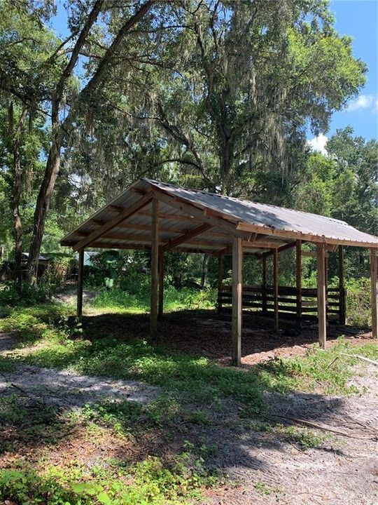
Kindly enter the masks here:
<path id="1" fill-rule="evenodd" d="M 365 82 L 328 1 L 71 2 L 65 40 L 55 9 L 1 0 L 1 234 L 18 260 L 29 247 L 30 280 L 140 175 L 377 234 L 377 143 L 347 128 L 323 156 L 306 140 Z"/>

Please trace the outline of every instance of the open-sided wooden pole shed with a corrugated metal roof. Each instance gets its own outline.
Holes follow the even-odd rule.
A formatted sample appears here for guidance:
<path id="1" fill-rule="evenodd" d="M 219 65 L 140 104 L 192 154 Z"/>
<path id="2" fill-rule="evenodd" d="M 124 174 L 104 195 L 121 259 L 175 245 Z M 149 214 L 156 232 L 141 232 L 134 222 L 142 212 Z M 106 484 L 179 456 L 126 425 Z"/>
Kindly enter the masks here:
<path id="1" fill-rule="evenodd" d="M 151 338 L 155 338 L 158 320 L 162 317 L 165 253 L 208 253 L 218 257 L 218 307 L 223 302 L 230 302 L 232 363 L 239 365 L 242 313 L 243 308 L 248 306 L 247 302 L 262 306 L 269 304 L 276 330 L 279 328 L 280 304 L 281 307 L 285 307 L 282 303 L 288 305 L 285 297 L 295 299 L 298 317 L 306 312 L 302 298 L 309 293 L 302 288 L 301 268 L 304 242 L 316 245 L 318 281 L 314 292 L 316 307 L 311 307 L 311 310 L 316 312 L 313 315 L 318 320 L 321 346 L 325 347 L 330 304 L 342 306 L 344 245 L 370 250 L 372 335 L 378 337 L 378 238 L 331 217 L 186 189 L 143 177 L 66 235 L 61 244 L 79 253 L 78 316 L 82 311 L 85 248 L 151 250 Z M 278 283 L 279 253 L 288 248 L 296 250 L 297 267 L 295 291 L 290 294 L 280 292 Z M 338 250 L 339 253 L 336 302 L 330 301 L 332 293 L 327 289 L 326 264 L 330 250 Z M 232 255 L 232 287 L 229 293 L 222 284 L 224 255 Z M 253 255 L 261 261 L 263 276 L 267 257 L 273 257 L 274 281 L 271 287 L 262 285 L 258 293 L 243 289 L 244 255 Z"/>

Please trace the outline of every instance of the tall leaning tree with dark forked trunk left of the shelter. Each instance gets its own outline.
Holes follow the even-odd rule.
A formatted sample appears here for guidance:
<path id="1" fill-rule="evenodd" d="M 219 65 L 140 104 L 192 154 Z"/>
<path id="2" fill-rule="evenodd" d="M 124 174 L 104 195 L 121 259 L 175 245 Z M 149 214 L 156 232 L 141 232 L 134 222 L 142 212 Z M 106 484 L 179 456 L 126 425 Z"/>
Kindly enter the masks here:
<path id="1" fill-rule="evenodd" d="M 80 6 L 73 8 L 73 15 L 71 16 L 71 36 L 69 36 L 66 41 L 63 41 L 49 58 L 43 62 L 43 65 L 38 69 L 40 72 L 37 72 L 38 76 L 36 83 L 31 87 L 29 93 L 26 93 L 22 97 L 24 102 L 33 100 L 34 102 L 38 102 L 38 104 L 41 103 L 43 99 L 48 100 L 51 123 L 51 142 L 45 163 L 45 173 L 36 200 L 34 227 L 27 267 L 28 278 L 32 283 L 36 282 L 38 256 L 41 250 L 45 220 L 52 198 L 52 191 L 59 173 L 62 142 L 66 130 L 73 122 L 78 107 L 80 107 L 83 102 L 89 100 L 96 88 L 102 83 L 102 79 L 109 65 L 111 63 L 113 65 L 115 64 L 114 56 L 118 48 L 122 45 L 127 33 L 144 17 L 153 3 L 154 0 L 147 0 L 143 4 L 137 5 L 134 13 L 130 13 L 133 8 L 132 4 L 125 6 L 123 15 L 125 15 L 126 21 L 125 18 L 122 20 L 119 19 L 122 22 L 119 23 L 113 40 L 109 43 L 109 46 L 103 46 L 102 55 L 100 57 L 96 55 L 97 64 L 94 65 L 94 62 L 89 58 L 90 62 L 87 64 L 87 69 L 90 72 L 90 77 L 76 96 L 73 95 L 70 89 L 74 69 L 76 65 L 78 65 L 80 55 L 89 43 L 90 37 L 92 36 L 92 41 L 95 40 L 96 29 L 99 29 L 99 25 L 96 25 L 99 15 L 101 13 L 106 13 L 110 6 L 106 4 L 104 0 L 96 0 L 90 5 L 89 9 L 87 9 L 85 4 L 80 4 Z M 19 9 L 13 8 L 12 10 L 12 8 L 10 8 L 10 10 L 12 11 L 12 15 L 18 15 L 19 13 Z M 40 24 L 40 20 L 36 17 L 35 13 L 29 13 L 29 11 L 24 9 L 22 11 L 22 16 L 28 18 L 34 25 Z M 112 28 L 114 28 L 114 25 Z M 75 41 L 73 46 L 68 47 L 67 43 L 72 40 Z M 20 42 L 21 39 L 15 41 L 16 44 Z M 65 60 L 62 65 L 55 86 L 52 86 L 50 89 L 50 95 L 48 97 L 42 98 L 42 96 L 37 93 L 37 85 L 43 81 L 43 76 L 50 72 L 51 67 L 57 68 L 58 62 L 61 61 L 61 58 L 65 58 L 65 55 L 69 55 L 69 58 Z M 2 81 L 9 83 L 9 79 L 2 79 Z M 8 86 L 8 91 L 15 94 L 13 86 Z M 69 101 L 67 102 L 68 96 Z M 66 112 L 67 106 L 69 109 L 68 112 Z"/>

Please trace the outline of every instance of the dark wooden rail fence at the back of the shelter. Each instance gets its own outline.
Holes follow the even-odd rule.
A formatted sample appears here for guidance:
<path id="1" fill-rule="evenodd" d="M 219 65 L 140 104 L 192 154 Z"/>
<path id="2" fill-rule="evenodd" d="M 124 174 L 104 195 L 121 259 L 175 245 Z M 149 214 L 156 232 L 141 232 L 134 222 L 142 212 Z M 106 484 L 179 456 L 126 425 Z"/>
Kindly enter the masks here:
<path id="1" fill-rule="evenodd" d="M 218 291 L 218 312 L 230 311 L 232 305 L 232 288 L 223 285 Z M 279 286 L 279 317 L 295 321 L 316 321 L 318 317 L 316 288 L 290 288 Z M 346 290 L 328 288 L 327 318 L 345 324 Z M 255 312 L 261 316 L 274 316 L 273 286 L 243 286 L 242 307 L 245 312 Z"/>

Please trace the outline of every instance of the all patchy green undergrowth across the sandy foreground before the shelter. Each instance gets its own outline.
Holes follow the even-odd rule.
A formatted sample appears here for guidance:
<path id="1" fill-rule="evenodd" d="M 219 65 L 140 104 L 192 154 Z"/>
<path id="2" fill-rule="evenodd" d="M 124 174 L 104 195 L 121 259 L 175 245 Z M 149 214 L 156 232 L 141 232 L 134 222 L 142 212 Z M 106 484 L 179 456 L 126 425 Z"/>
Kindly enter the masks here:
<path id="1" fill-rule="evenodd" d="M 272 431 L 281 440 L 307 450 L 321 445 L 324 436 L 272 422 L 269 414 L 274 414 L 274 404 L 268 408 L 265 391 L 283 395 L 307 391 L 314 396 L 361 394 L 363 391 L 349 381 L 356 373 L 363 373 L 364 363 L 343 353 L 378 358 L 378 346 L 351 348 L 341 338 L 328 351 L 314 346 L 303 357 L 237 369 L 208 358 L 175 353 L 144 339 L 125 342 L 112 335 L 100 336 L 106 335 L 106 328 L 96 326 L 104 325 L 101 318 L 85 330 L 71 310 L 60 304 L 4 309 L 0 331 L 17 331 L 18 337 L 16 348 L 0 357 L 0 371 L 6 375 L 16 364 L 29 363 L 141 380 L 158 386 L 157 396 L 147 405 L 109 399 L 59 415 L 48 409 L 41 412 L 38 405 L 34 408 L 26 403 L 25 407 L 20 391 L 12 391 L 1 398 L 0 417 L 13 428 L 17 426 L 18 443 L 38 439 L 54 445 L 79 425 L 93 437 L 110 430 L 113 436 L 132 443 L 148 433 L 181 433 L 185 437 L 195 424 L 204 427 L 224 422 L 235 429 Z M 130 319 L 127 321 L 131 324 Z M 76 464 L 68 470 L 55 466 L 38 471 L 25 464 L 13 465 L 12 470 L 0 472 L 0 501 L 17 505 L 192 503 L 202 487 L 215 480 L 202 467 L 211 448 L 203 448 L 202 454 L 192 442 L 188 444 L 190 454 L 176 456 L 174 464 L 168 466 L 157 458 L 131 466 L 118 462 L 112 467 L 109 463 L 98 469 Z"/>

